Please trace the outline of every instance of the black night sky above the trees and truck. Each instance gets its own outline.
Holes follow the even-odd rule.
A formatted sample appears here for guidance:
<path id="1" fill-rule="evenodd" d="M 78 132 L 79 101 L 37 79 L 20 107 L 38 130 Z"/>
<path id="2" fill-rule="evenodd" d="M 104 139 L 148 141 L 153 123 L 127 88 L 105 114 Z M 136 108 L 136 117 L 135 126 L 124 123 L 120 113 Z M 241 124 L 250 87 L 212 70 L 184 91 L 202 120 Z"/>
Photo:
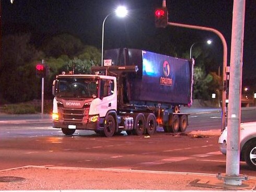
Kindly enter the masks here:
<path id="1" fill-rule="evenodd" d="M 222 32 L 228 45 L 229 65 L 232 0 L 166 0 L 166 3 L 169 22 L 211 27 Z M 129 9 L 129 16 L 120 19 L 113 14 L 107 19 L 104 33 L 106 49 L 119 44 L 125 46 L 126 41 L 137 42 L 157 30 L 154 26 L 154 9 L 161 6 L 161 0 L 14 0 L 13 4 L 9 0 L 1 0 L 2 34 L 30 31 L 37 34 L 36 41 L 40 44 L 45 36 L 67 32 L 79 37 L 85 44 L 100 49 L 103 19 L 120 4 Z M 255 14 L 256 1 L 247 0 L 243 78 L 256 77 Z M 205 39 L 213 39 L 212 49 L 216 57 L 221 58 L 221 65 L 221 41 L 212 32 L 198 33 L 205 35 Z M 193 38 L 192 35 L 191 42 Z M 133 46 L 131 43 L 129 45 Z M 188 44 L 188 50 L 190 46 Z"/>

